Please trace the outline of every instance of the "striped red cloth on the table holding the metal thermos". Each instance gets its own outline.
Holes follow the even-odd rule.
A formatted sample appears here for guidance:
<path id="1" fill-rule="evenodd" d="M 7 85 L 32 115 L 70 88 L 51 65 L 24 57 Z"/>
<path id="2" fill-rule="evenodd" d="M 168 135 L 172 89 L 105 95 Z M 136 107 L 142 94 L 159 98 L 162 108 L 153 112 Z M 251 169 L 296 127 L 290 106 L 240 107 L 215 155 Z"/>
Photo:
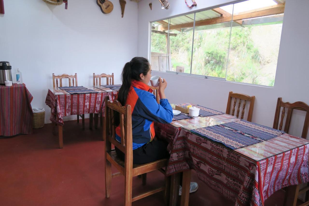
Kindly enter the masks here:
<path id="1" fill-rule="evenodd" d="M 0 136 L 32 134 L 32 99 L 25 84 L 0 85 Z"/>

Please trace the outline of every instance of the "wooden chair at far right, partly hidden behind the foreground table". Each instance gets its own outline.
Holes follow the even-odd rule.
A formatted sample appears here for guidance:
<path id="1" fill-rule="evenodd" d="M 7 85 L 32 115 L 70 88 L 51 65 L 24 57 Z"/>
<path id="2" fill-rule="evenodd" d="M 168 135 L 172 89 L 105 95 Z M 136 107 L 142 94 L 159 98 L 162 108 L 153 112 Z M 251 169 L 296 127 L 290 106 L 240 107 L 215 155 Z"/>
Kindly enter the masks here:
<path id="1" fill-rule="evenodd" d="M 281 107 L 283 107 L 282 111 L 281 111 Z M 294 103 L 283 102 L 282 98 L 279 97 L 277 100 L 275 118 L 273 121 L 273 128 L 282 130 L 283 121 L 286 116 L 286 122 L 283 128 L 283 131 L 285 131 L 286 133 L 289 133 L 292 113 L 294 109 L 298 109 L 298 110 L 302 110 L 306 112 L 305 122 L 304 122 L 302 136 L 301 136 L 302 138 L 306 139 L 307 133 L 308 133 L 308 127 L 309 127 L 309 105 L 307 105 L 306 103 L 302 101 L 297 101 Z M 280 118 L 280 112 L 281 112 L 281 118 Z M 279 119 L 280 119 L 280 123 L 279 123 Z M 309 184 L 307 184 L 307 186 L 302 189 L 299 189 L 299 185 L 293 185 L 293 186 L 287 187 L 286 189 L 287 195 L 285 196 L 284 205 L 296 206 L 298 195 L 304 192 L 306 192 L 305 203 L 301 205 L 309 205 Z"/>

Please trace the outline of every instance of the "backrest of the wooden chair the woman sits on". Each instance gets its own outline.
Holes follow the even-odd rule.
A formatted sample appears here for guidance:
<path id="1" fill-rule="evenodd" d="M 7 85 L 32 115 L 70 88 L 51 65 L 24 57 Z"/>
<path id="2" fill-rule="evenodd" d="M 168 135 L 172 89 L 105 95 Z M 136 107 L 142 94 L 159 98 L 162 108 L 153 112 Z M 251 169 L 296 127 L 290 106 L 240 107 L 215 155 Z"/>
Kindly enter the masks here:
<path id="1" fill-rule="evenodd" d="M 121 141 L 116 141 L 116 125 L 114 123 L 115 112 L 119 113 Z M 109 97 L 105 98 L 105 117 L 104 117 L 104 139 L 106 151 L 111 150 L 111 144 L 115 145 L 119 150 L 125 153 L 125 159 L 133 162 L 133 143 L 132 143 L 132 117 L 131 105 L 122 106 L 118 100 L 109 101 Z"/>

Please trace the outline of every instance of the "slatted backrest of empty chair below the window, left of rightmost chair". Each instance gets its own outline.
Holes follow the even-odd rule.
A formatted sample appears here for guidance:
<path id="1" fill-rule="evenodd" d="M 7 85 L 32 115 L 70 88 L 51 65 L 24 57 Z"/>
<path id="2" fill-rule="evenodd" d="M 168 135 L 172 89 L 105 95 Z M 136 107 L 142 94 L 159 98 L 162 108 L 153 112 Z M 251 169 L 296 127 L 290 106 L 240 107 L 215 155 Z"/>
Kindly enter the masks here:
<path id="1" fill-rule="evenodd" d="M 251 122 L 255 96 L 250 97 L 250 96 L 245 95 L 245 94 L 230 92 L 229 93 L 229 98 L 227 100 L 226 114 L 230 114 L 230 112 L 231 112 L 231 103 L 232 103 L 232 98 L 233 97 L 235 99 L 234 99 L 234 102 L 233 102 L 233 109 L 232 109 L 232 114 L 231 115 L 236 116 L 237 118 L 239 118 L 240 106 L 241 106 L 241 103 L 243 102 L 243 110 L 242 110 L 241 116 L 240 116 L 240 118 L 243 119 L 243 115 L 245 113 L 245 108 L 246 108 L 246 105 L 247 105 L 247 101 L 250 101 L 247 121 Z M 235 115 L 235 106 L 236 106 L 237 99 L 239 99 L 239 101 L 238 101 L 237 113 Z"/>

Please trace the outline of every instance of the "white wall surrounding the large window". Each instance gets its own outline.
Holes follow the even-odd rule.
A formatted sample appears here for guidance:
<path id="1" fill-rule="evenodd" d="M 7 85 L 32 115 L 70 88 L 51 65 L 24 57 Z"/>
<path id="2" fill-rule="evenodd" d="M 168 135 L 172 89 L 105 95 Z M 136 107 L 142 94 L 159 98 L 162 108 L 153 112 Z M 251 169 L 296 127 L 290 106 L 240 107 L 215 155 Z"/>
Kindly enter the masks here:
<path id="1" fill-rule="evenodd" d="M 152 11 L 148 4 L 152 2 Z M 159 1 L 143 0 L 138 5 L 138 55 L 149 57 L 150 21 L 167 19 L 194 10 L 200 10 L 231 1 L 197 1 L 197 6 L 188 8 L 183 1 L 169 0 L 168 10 L 161 9 Z M 283 101 L 304 101 L 309 104 L 308 48 L 309 48 L 308 0 L 286 0 L 281 42 L 278 56 L 275 85 L 273 88 L 202 79 L 191 76 L 153 72 L 166 78 L 167 98 L 170 102 L 193 102 L 220 111 L 226 110 L 229 91 L 254 95 L 256 97 L 252 122 L 273 126 L 273 118 L 278 97 Z M 301 135 L 304 115 L 295 112 L 290 133 Z M 298 124 L 302 122 L 302 125 Z"/>

